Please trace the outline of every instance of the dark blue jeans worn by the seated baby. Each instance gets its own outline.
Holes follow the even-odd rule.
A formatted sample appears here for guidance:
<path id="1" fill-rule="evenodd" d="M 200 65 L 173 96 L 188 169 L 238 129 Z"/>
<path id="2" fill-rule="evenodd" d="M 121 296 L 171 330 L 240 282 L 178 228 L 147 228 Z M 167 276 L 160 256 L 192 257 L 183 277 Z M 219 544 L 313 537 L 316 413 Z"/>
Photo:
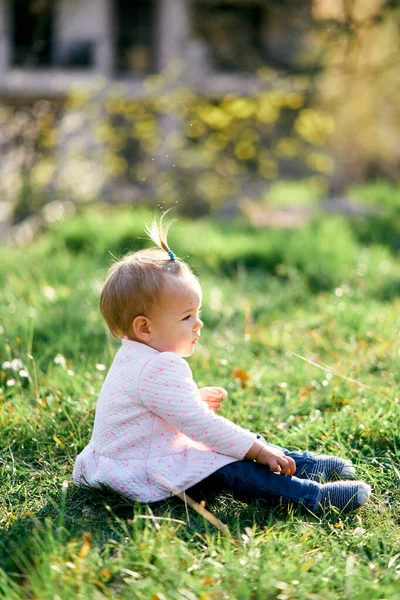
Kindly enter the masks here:
<path id="1" fill-rule="evenodd" d="M 187 494 L 194 499 L 207 498 L 211 494 L 229 491 L 234 498 L 247 504 L 257 500 L 266 502 L 268 506 L 288 506 L 296 504 L 313 511 L 321 484 L 307 479 L 307 473 L 315 464 L 311 452 L 290 452 L 286 448 L 267 444 L 279 449 L 296 462 L 296 473 L 305 477 L 302 479 L 293 475 L 273 473 L 266 465 L 260 465 L 252 460 L 232 462 L 190 489 Z"/>

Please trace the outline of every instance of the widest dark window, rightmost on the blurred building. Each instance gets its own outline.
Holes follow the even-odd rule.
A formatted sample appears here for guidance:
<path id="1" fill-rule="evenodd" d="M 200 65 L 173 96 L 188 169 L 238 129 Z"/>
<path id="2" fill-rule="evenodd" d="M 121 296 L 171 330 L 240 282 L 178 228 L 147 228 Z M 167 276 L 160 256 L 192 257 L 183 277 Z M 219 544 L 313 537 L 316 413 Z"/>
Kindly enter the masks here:
<path id="1" fill-rule="evenodd" d="M 254 73 L 265 65 L 301 70 L 309 2 L 197 0 L 193 27 L 205 44 L 208 66 L 222 73 Z"/>

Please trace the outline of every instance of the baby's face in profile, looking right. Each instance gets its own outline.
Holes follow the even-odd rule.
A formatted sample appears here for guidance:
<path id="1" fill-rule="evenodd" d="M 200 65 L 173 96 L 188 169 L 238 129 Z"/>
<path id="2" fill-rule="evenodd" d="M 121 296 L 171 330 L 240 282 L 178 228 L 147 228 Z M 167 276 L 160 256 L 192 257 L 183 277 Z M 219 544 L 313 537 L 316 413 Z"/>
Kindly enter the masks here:
<path id="1" fill-rule="evenodd" d="M 201 289 L 197 282 L 178 281 L 171 286 L 160 307 L 151 315 L 149 345 L 159 352 L 191 356 L 203 327 L 200 306 Z"/>

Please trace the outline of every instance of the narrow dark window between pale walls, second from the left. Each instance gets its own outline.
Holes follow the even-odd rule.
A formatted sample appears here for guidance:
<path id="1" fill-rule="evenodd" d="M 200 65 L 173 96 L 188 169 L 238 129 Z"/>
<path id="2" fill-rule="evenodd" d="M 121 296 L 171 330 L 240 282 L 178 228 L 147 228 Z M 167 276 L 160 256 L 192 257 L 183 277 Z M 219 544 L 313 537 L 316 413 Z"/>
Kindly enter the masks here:
<path id="1" fill-rule="evenodd" d="M 116 0 L 115 40 L 118 73 L 155 71 L 155 1 Z"/>

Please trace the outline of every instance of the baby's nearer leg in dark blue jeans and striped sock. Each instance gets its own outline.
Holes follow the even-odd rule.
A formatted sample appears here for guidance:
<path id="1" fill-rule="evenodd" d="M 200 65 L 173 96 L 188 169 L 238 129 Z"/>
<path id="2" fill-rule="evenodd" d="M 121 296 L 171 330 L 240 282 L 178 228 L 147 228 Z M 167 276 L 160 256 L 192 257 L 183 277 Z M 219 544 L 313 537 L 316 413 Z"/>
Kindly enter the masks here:
<path id="1" fill-rule="evenodd" d="M 265 465 L 242 460 L 222 467 L 196 484 L 187 493 L 198 498 L 210 493 L 230 491 L 234 498 L 248 504 L 265 501 L 271 507 L 295 504 L 318 514 L 336 507 L 349 511 L 367 502 L 371 488 L 362 481 L 321 484 L 310 479 L 272 473 Z"/>

